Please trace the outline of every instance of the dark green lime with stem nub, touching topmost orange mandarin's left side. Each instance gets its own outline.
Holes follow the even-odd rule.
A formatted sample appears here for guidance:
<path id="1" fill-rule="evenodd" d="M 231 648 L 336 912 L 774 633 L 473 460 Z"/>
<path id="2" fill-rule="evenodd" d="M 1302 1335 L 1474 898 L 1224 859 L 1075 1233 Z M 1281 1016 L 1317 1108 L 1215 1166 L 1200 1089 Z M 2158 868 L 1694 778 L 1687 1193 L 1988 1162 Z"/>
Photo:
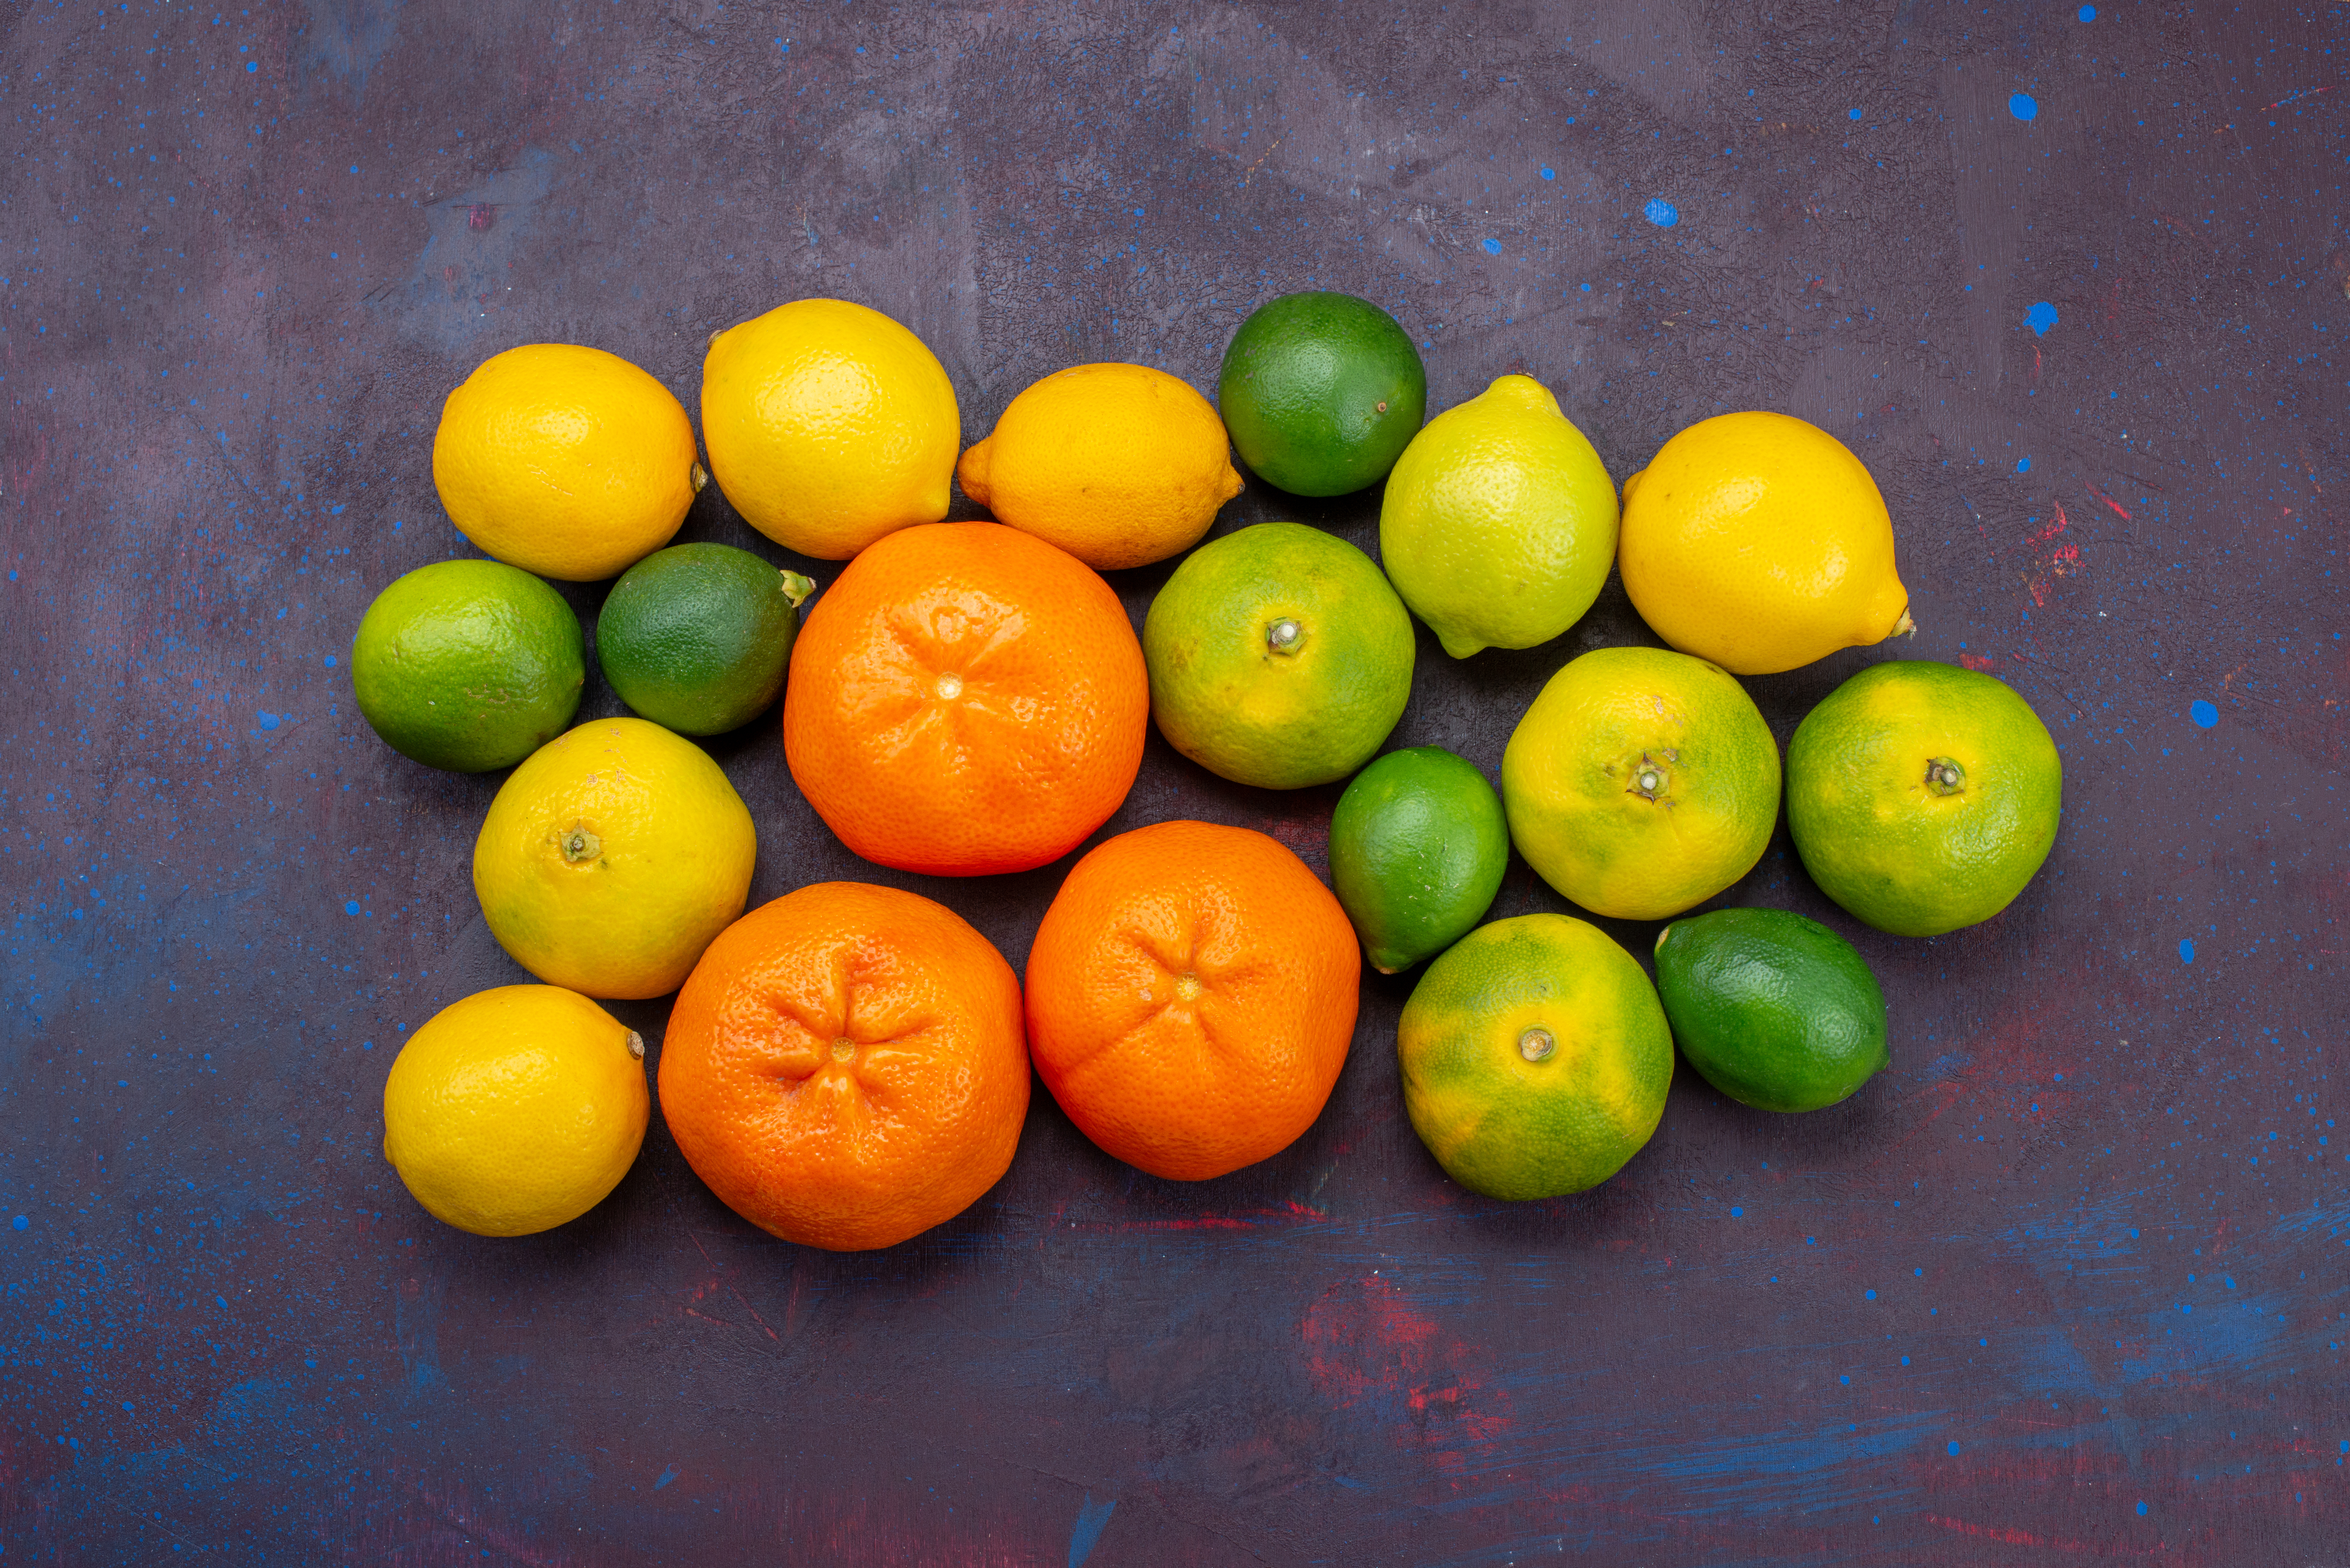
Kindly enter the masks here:
<path id="1" fill-rule="evenodd" d="M 682 736 L 750 724 L 783 693 L 815 583 L 733 545 L 670 545 L 630 567 L 595 623 L 620 701 Z"/>

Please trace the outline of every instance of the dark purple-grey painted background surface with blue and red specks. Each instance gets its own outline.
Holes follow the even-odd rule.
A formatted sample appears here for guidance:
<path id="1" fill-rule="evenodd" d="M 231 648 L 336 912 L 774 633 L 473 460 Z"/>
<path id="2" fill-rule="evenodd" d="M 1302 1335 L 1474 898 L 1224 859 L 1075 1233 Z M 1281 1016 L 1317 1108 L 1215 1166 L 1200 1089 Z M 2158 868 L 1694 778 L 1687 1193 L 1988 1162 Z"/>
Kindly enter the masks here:
<path id="1" fill-rule="evenodd" d="M 21 0 L 0 40 L 0 1563 L 2350 1561 L 2341 2 Z M 1213 388 L 1302 287 L 1394 310 L 1431 407 L 1539 376 L 1617 477 L 1739 407 L 1868 461 L 1913 651 L 2068 773 L 1979 929 L 1864 931 L 1784 835 L 1720 900 L 1852 936 L 1894 1065 L 1800 1119 L 1683 1074 L 1617 1180 L 1506 1206 L 1412 1138 L 1370 980 L 1323 1119 L 1217 1182 L 1039 1095 L 879 1255 L 743 1225 L 658 1119 L 555 1234 L 428 1220 L 378 1095 L 519 978 L 465 872 L 496 778 L 383 748 L 348 646 L 468 552 L 442 395 L 555 339 L 691 409 L 712 329 L 837 294 L 978 440 L 1072 362 Z M 1264 517 L 1375 548 L 1375 498 L 1217 527 Z M 686 538 L 776 557 L 717 489 Z M 1614 585 L 1525 654 L 1422 635 L 1394 745 L 1492 771 L 1622 642 Z M 1784 741 L 1873 658 L 1751 689 Z M 712 752 L 754 898 L 916 886 L 1022 961 L 1065 865 L 879 872 L 771 719 Z M 1109 830 L 1323 865 L 1332 799 L 1154 738 Z M 1551 907 L 1513 865 L 1495 914 Z"/>

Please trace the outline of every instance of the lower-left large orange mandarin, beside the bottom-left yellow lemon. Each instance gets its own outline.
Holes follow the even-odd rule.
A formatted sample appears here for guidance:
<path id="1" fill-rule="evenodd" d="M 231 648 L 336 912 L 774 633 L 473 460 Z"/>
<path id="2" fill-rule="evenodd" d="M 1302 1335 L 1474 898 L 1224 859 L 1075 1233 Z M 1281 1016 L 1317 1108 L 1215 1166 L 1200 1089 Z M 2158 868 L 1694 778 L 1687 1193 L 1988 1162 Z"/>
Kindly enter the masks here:
<path id="1" fill-rule="evenodd" d="M 895 1246 L 1013 1164 L 1020 980 L 919 893 L 820 882 L 726 926 L 677 992 L 660 1114 L 693 1173 L 785 1241 Z"/>

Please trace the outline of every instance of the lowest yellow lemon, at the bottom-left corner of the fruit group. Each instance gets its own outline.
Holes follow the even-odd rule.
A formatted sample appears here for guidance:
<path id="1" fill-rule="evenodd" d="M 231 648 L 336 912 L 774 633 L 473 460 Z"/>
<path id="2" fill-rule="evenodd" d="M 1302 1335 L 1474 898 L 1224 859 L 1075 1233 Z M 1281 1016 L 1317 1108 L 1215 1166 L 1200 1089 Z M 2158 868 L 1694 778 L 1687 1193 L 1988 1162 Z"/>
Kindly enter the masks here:
<path id="1" fill-rule="evenodd" d="M 437 1220 L 529 1237 L 620 1185 L 651 1114 L 644 1037 L 559 985 L 451 1001 L 383 1084 L 383 1157 Z"/>

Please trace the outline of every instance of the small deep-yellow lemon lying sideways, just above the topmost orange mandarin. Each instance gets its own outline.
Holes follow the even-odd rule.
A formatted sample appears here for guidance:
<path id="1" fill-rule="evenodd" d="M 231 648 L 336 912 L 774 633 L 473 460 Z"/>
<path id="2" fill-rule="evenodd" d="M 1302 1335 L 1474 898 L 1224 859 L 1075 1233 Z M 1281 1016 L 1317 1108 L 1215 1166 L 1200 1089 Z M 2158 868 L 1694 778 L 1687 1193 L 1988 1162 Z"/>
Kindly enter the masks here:
<path id="1" fill-rule="evenodd" d="M 964 454 L 964 494 L 1095 571 L 1147 567 L 1198 543 L 1241 494 L 1224 421 L 1147 364 L 1076 364 L 1003 409 Z"/>

